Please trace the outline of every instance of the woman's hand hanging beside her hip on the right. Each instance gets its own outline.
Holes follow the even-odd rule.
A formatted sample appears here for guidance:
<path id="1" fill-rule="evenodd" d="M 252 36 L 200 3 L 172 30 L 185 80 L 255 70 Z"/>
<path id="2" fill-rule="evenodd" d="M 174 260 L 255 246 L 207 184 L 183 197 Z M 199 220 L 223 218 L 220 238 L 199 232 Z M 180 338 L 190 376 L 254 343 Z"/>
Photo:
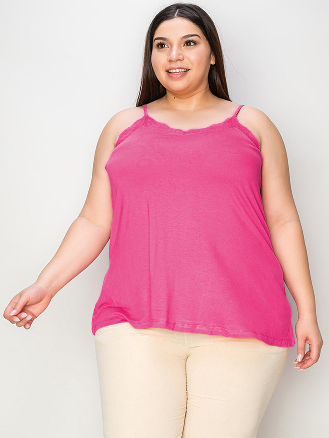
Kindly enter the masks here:
<path id="1" fill-rule="evenodd" d="M 314 313 L 299 315 L 295 325 L 295 333 L 297 336 L 296 367 L 305 370 L 318 362 L 323 345 L 316 315 Z M 305 343 L 310 346 L 307 353 L 305 353 Z"/>

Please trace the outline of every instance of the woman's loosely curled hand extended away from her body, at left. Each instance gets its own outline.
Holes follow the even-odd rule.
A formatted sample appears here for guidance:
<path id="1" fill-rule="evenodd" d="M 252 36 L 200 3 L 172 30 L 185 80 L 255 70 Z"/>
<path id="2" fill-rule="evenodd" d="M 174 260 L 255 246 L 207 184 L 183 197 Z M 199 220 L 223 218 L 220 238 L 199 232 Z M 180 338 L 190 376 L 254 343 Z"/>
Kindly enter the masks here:
<path id="1" fill-rule="evenodd" d="M 51 299 L 52 296 L 42 285 L 33 283 L 14 296 L 4 310 L 4 318 L 17 327 L 29 329 L 32 322 L 48 307 Z"/>

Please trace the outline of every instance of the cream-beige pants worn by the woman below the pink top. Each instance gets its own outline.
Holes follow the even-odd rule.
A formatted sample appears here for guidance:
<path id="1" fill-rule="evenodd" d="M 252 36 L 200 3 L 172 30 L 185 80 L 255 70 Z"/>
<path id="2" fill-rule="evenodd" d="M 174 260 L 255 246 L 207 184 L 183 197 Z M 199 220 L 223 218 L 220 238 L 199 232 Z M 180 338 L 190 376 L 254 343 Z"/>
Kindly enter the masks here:
<path id="1" fill-rule="evenodd" d="M 95 348 L 105 438 L 255 438 L 289 351 L 129 322 Z"/>

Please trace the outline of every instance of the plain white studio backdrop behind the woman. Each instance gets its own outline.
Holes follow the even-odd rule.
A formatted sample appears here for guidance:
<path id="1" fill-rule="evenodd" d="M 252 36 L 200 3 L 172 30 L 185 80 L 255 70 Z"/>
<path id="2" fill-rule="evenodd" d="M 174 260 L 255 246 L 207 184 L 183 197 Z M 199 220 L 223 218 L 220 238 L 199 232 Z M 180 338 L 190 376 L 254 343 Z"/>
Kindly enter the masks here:
<path id="1" fill-rule="evenodd" d="M 81 211 L 100 132 L 135 106 L 148 25 L 172 3 L 1 1 L 1 312 L 36 280 Z M 264 111 L 285 141 L 324 339 L 320 360 L 304 373 L 294 369 L 297 343 L 290 348 L 257 438 L 325 438 L 328 2 L 196 3 L 218 26 L 232 101 Z M 108 244 L 31 329 L 1 319 L 2 436 L 102 437 L 91 317 L 107 251 Z M 287 297 L 294 328 L 297 309 L 288 290 Z"/>

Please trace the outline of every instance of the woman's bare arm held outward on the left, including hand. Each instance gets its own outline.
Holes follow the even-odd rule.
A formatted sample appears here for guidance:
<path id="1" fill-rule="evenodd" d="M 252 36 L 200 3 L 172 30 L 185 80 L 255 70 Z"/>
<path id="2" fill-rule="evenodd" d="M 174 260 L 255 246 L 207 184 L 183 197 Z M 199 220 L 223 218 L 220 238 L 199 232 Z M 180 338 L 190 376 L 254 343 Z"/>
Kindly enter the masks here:
<path id="1" fill-rule="evenodd" d="M 29 328 L 54 295 L 97 258 L 110 238 L 111 187 L 104 166 L 114 149 L 120 117 L 115 114 L 100 134 L 89 191 L 79 216 L 36 282 L 15 295 L 4 311 L 4 318 L 18 327 Z M 29 315 L 32 318 L 27 319 Z"/>

